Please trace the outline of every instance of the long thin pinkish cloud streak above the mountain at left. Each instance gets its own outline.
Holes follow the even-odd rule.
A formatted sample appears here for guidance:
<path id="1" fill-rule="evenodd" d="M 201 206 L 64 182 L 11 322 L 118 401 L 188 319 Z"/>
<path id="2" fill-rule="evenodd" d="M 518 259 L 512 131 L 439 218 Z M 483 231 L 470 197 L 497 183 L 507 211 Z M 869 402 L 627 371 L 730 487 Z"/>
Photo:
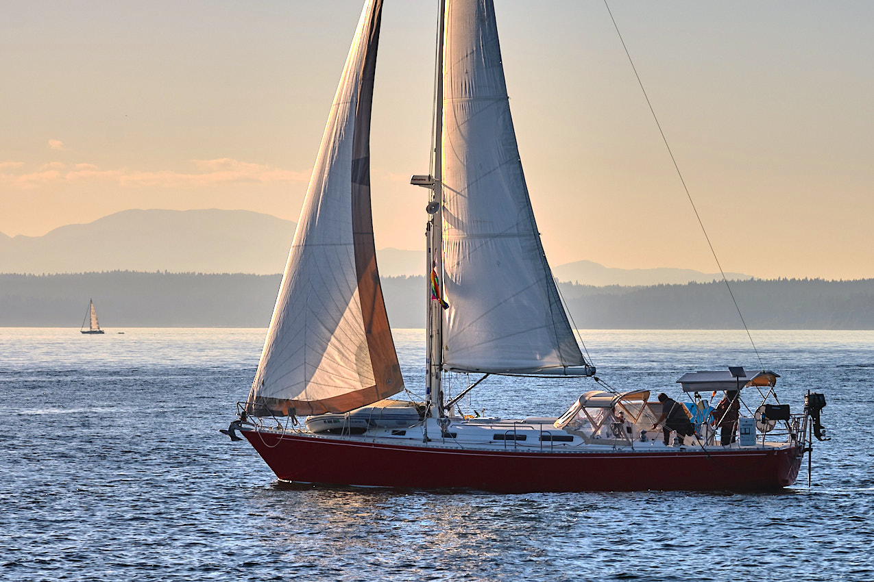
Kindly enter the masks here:
<path id="1" fill-rule="evenodd" d="M 207 188 L 220 184 L 265 184 L 272 182 L 309 181 L 309 174 L 274 168 L 267 164 L 218 158 L 192 160 L 198 171 L 185 173 L 172 170 L 141 171 L 129 168 L 101 169 L 94 164 L 78 163 L 62 174 L 66 164 L 52 161 L 40 166 L 40 172 L 25 175 L 0 174 L 0 183 L 19 188 L 36 188 L 49 183 L 114 181 L 122 188 Z M 0 168 L 21 168 L 23 162 L 3 162 Z"/>

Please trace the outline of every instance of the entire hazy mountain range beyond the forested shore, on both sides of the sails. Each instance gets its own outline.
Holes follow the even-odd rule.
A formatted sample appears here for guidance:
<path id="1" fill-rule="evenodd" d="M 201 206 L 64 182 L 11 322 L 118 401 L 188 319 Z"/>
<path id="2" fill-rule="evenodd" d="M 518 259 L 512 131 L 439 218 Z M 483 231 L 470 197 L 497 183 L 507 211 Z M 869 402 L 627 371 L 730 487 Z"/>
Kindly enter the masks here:
<path id="1" fill-rule="evenodd" d="M 248 210 L 124 210 L 93 223 L 69 224 L 44 236 L 0 233 L 0 273 L 108 270 L 281 273 L 295 223 Z M 420 275 L 424 251 L 378 250 L 384 277 Z M 591 261 L 553 266 L 561 281 L 649 285 L 707 282 L 720 276 L 689 269 L 614 269 Z M 733 279 L 748 279 L 726 273 Z"/>

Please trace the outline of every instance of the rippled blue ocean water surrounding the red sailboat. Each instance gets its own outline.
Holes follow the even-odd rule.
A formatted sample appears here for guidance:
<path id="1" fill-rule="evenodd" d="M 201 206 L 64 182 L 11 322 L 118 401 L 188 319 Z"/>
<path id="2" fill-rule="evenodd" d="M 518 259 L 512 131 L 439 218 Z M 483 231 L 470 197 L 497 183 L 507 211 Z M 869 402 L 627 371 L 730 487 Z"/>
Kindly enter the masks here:
<path id="1" fill-rule="evenodd" d="M 414 394 L 422 336 L 395 332 Z M 0 580 L 874 579 L 874 332 L 753 337 L 781 401 L 827 396 L 833 440 L 815 443 L 809 489 L 806 462 L 793 487 L 759 495 L 279 483 L 246 442 L 218 434 L 264 330 L 0 328 Z M 621 389 L 679 394 L 682 373 L 759 367 L 743 332 L 584 339 Z M 557 415 L 591 387 L 487 380 L 462 405 Z"/>

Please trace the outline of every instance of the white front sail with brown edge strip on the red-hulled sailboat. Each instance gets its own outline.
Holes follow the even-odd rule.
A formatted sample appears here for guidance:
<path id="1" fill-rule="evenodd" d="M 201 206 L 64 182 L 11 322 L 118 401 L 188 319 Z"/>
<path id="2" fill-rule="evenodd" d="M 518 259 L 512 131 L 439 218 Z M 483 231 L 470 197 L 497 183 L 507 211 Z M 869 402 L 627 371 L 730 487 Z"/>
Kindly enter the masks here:
<path id="1" fill-rule="evenodd" d="M 249 394 L 250 414 L 342 413 L 404 387 L 371 223 L 382 0 L 364 4 Z"/>

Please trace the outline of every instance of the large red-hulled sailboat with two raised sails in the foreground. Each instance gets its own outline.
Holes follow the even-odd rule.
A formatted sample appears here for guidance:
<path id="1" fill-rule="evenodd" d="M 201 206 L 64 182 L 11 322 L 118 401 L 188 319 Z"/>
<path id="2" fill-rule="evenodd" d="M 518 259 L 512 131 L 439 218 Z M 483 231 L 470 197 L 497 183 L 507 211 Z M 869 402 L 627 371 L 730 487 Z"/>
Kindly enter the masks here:
<path id="1" fill-rule="evenodd" d="M 649 390 L 615 392 L 583 356 L 546 261 L 519 158 L 492 0 L 440 3 L 434 163 L 427 188 L 424 400 L 407 392 L 371 222 L 370 127 L 381 0 L 364 3 L 331 106 L 251 390 L 221 432 L 297 483 L 498 492 L 776 490 L 794 483 L 822 394 L 802 414 L 778 374 L 686 374 L 693 435 L 667 428 Z M 468 387 L 444 393 L 453 374 Z M 458 414 L 496 375 L 592 382 L 564 414 Z M 716 442 L 700 393 L 762 404 Z M 765 392 L 763 392 L 763 390 Z M 695 394 L 693 397 L 691 394 Z M 662 414 L 664 413 L 664 414 Z M 655 431 L 654 431 L 655 428 Z M 682 431 L 677 431 L 682 432 Z M 664 439 L 662 439 L 662 433 Z M 655 435 L 656 438 L 652 438 Z M 737 438 L 735 438 L 737 437 Z M 808 457 L 809 458 L 809 457 Z"/>

